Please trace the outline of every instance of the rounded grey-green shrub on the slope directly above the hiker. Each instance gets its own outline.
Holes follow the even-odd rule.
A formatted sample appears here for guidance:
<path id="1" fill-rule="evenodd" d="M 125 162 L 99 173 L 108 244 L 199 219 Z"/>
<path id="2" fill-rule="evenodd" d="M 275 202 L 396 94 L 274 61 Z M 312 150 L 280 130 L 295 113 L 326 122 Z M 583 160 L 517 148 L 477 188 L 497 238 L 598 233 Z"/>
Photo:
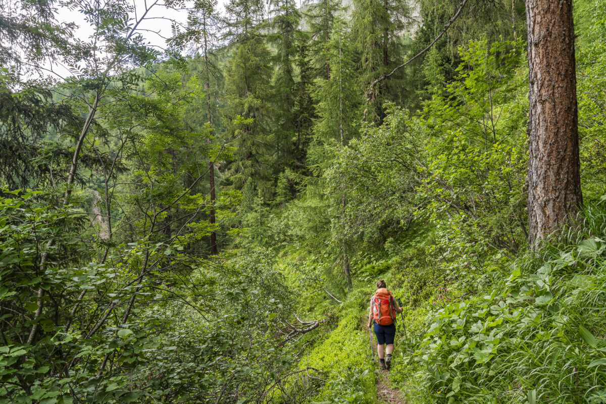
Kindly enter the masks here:
<path id="1" fill-rule="evenodd" d="M 383 125 L 364 125 L 361 139 L 340 150 L 325 175 L 333 234 L 346 239 L 364 234 L 372 243 L 385 227 L 408 221 L 418 144 L 409 123 L 407 112 L 392 105 Z M 343 214 L 342 193 L 347 195 Z"/>

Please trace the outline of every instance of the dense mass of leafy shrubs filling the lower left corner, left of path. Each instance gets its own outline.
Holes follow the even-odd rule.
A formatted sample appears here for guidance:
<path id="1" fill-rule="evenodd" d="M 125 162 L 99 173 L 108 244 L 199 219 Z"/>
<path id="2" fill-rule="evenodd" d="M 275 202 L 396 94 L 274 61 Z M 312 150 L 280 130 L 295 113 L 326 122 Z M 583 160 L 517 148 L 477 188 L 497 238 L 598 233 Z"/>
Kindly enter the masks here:
<path id="1" fill-rule="evenodd" d="M 281 385 L 293 294 L 267 251 L 187 271 L 196 263 L 181 244 L 142 241 L 119 246 L 113 266 L 82 266 L 96 251 L 73 237 L 79 211 L 48 207 L 40 191 L 10 194 L 0 199 L 3 403 L 231 402 L 233 391 L 265 402 L 267 385 Z M 27 342 L 36 324 L 41 336 Z"/>

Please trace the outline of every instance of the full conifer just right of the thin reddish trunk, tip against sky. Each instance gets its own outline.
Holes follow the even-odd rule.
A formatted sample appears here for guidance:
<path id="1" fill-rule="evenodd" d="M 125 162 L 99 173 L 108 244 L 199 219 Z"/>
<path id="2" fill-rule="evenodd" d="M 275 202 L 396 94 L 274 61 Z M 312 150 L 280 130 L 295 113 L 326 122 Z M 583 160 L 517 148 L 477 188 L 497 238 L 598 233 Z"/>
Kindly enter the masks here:
<path id="1" fill-rule="evenodd" d="M 231 59 L 225 72 L 226 141 L 235 148 L 226 168 L 230 185 L 242 189 L 251 177 L 264 197 L 273 184 L 271 159 L 275 136 L 271 131 L 271 54 L 260 24 L 261 0 L 232 0 L 226 6 Z"/>

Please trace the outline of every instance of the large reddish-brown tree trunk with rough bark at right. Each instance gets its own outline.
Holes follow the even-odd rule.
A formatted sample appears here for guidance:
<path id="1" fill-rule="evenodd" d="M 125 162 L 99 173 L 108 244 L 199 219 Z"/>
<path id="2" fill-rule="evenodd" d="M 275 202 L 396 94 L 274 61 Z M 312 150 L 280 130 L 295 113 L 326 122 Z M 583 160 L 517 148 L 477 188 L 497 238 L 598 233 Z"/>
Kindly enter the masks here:
<path id="1" fill-rule="evenodd" d="M 526 0 L 530 245 L 582 205 L 572 0 Z"/>

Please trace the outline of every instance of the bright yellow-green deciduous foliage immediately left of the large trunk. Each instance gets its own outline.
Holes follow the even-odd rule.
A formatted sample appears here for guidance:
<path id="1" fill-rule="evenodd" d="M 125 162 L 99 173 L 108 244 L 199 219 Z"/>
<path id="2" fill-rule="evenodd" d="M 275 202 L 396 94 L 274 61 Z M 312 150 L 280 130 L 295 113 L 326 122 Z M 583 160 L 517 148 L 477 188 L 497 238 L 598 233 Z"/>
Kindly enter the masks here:
<path id="1" fill-rule="evenodd" d="M 419 164 L 417 197 L 461 257 L 479 247 L 476 237 L 514 253 L 525 246 L 521 50 L 514 42 L 470 42 L 458 79 L 424 105 L 430 154 Z"/>

